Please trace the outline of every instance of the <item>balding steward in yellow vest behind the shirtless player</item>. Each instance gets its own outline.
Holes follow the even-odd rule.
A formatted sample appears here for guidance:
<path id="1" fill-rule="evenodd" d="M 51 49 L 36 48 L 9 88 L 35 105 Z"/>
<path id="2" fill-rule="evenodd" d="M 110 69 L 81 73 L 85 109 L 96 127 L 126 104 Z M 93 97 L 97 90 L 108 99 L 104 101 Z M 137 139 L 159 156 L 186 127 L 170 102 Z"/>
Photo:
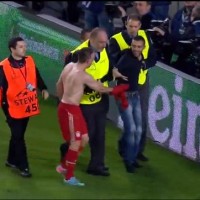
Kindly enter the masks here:
<path id="1" fill-rule="evenodd" d="M 104 29 L 95 28 L 90 34 L 89 40 L 83 42 L 73 50 L 65 59 L 65 65 L 77 61 L 77 51 L 83 47 L 92 47 L 95 52 L 95 60 L 86 72 L 95 80 L 108 86 L 108 81 L 113 80 L 112 67 L 110 65 L 107 49 L 108 36 Z M 100 94 L 89 87 L 85 88 L 80 107 L 88 127 L 89 146 L 91 158 L 87 167 L 87 173 L 92 175 L 109 176 L 109 169 L 105 166 L 105 128 L 106 115 L 109 109 L 109 97 Z M 67 149 L 66 144 L 61 149 Z"/>

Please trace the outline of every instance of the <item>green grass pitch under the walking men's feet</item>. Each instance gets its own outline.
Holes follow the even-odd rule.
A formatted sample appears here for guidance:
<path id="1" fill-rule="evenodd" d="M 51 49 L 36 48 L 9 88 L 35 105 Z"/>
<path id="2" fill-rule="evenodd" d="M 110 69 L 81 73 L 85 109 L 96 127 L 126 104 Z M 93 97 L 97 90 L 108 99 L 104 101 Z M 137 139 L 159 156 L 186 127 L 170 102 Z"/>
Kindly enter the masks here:
<path id="1" fill-rule="evenodd" d="M 33 177 L 20 177 L 6 168 L 9 130 L 0 111 L 0 199 L 200 199 L 199 164 L 176 155 L 148 141 L 148 163 L 135 174 L 126 173 L 117 153 L 120 131 L 108 122 L 106 135 L 106 164 L 110 177 L 85 173 L 89 148 L 81 155 L 76 176 L 85 187 L 63 184 L 56 173 L 59 144 L 62 142 L 53 100 L 41 101 L 41 114 L 30 120 L 26 141 Z"/>

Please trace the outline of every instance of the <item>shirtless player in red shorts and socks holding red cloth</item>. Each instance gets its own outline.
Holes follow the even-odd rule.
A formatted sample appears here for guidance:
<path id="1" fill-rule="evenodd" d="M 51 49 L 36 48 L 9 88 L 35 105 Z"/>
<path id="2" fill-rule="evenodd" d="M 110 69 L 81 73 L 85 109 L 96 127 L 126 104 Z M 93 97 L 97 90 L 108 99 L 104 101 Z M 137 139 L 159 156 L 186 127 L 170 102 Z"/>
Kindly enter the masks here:
<path id="1" fill-rule="evenodd" d="M 114 88 L 104 87 L 102 83 L 87 74 L 85 70 L 92 64 L 94 57 L 95 53 L 90 47 L 79 50 L 78 62 L 66 65 L 56 84 L 60 99 L 58 121 L 64 140 L 70 143 L 61 163 L 65 176 L 64 183 L 69 185 L 85 185 L 74 176 L 78 155 L 89 140 L 86 122 L 79 107 L 85 85 L 100 93 L 110 93 L 114 96 L 128 89 L 128 85 L 125 84 Z"/>

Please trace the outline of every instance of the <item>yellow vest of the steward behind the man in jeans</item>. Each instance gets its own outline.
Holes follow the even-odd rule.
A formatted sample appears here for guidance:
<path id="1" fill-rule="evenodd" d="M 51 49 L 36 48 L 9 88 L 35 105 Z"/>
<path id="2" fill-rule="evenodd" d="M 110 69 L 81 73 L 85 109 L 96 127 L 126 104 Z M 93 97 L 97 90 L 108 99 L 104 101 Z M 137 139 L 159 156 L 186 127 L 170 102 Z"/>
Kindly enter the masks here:
<path id="1" fill-rule="evenodd" d="M 148 52 L 149 52 L 149 41 L 147 39 L 146 33 L 144 30 L 139 30 L 138 35 L 142 36 L 145 40 L 145 48 L 142 51 L 142 55 L 144 59 L 147 59 L 148 57 Z M 130 46 L 126 43 L 122 36 L 122 32 L 117 33 L 112 36 L 112 38 L 115 38 L 116 42 L 118 43 L 120 50 L 123 51 L 124 49 L 130 48 Z M 147 74 L 147 69 L 146 70 L 140 70 L 139 78 L 138 78 L 138 84 L 143 85 L 146 81 L 146 74 Z"/>

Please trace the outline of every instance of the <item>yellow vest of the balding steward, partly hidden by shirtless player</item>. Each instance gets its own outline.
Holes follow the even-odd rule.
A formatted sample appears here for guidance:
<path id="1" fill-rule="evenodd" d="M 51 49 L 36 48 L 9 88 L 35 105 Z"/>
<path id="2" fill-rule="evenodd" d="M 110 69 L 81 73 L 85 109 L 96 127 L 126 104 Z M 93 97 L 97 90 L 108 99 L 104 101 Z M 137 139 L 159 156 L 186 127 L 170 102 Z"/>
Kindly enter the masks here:
<path id="1" fill-rule="evenodd" d="M 80 50 L 84 47 L 88 47 L 89 40 L 83 42 L 75 50 L 71 51 L 74 53 L 77 50 Z M 106 49 L 100 52 L 100 59 L 98 62 L 93 61 L 89 68 L 86 69 L 86 72 L 90 74 L 95 80 L 100 80 L 103 78 L 109 71 L 109 59 L 106 52 Z M 104 86 L 108 87 L 108 82 L 103 83 Z M 81 99 L 80 104 L 95 104 L 101 100 L 101 95 L 93 91 L 92 93 L 85 93 Z"/>

